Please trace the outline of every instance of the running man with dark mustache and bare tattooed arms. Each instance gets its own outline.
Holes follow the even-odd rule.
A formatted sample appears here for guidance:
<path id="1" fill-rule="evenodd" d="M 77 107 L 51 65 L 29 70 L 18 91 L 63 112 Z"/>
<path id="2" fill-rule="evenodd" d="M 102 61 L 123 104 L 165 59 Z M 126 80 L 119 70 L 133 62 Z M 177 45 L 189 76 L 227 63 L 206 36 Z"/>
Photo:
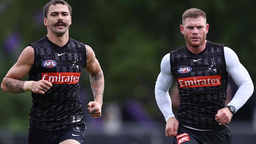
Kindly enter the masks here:
<path id="1" fill-rule="evenodd" d="M 29 144 L 81 144 L 86 129 L 79 98 L 80 74 L 90 75 L 93 118 L 101 116 L 104 76 L 90 46 L 69 37 L 71 7 L 51 0 L 44 7 L 47 35 L 30 44 L 4 77 L 4 92 L 32 92 Z M 29 74 L 28 81 L 21 81 Z"/>

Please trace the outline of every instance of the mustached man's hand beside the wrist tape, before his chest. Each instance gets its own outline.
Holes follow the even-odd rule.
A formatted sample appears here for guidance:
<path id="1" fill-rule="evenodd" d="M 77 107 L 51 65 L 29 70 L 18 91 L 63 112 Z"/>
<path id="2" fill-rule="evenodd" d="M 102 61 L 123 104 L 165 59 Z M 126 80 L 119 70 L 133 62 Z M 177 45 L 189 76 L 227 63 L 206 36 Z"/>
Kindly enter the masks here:
<path id="1" fill-rule="evenodd" d="M 32 83 L 31 91 L 36 94 L 45 94 L 52 87 L 52 83 L 46 80 L 39 80 Z"/>

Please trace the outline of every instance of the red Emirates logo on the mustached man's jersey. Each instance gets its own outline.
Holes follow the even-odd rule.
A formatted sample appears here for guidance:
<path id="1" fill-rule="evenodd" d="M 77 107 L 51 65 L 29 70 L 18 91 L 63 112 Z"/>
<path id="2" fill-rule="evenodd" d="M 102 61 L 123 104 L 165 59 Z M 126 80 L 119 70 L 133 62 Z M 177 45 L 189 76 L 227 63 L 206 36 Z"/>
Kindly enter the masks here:
<path id="1" fill-rule="evenodd" d="M 79 82 L 81 73 L 77 72 L 54 72 L 42 73 L 42 78 L 53 84 L 74 84 Z"/>

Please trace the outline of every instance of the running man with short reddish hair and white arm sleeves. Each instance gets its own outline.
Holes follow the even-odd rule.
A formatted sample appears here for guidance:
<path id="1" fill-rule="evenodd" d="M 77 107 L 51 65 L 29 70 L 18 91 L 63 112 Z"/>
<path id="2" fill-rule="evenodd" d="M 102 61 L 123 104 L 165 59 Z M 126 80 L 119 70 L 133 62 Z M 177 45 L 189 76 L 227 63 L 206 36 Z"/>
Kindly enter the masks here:
<path id="1" fill-rule="evenodd" d="M 254 90 L 236 53 L 206 40 L 208 30 L 202 10 L 186 10 L 180 25 L 186 46 L 171 51 L 161 61 L 155 96 L 166 120 L 165 135 L 174 136 L 174 144 L 230 144 L 228 124 Z M 228 76 L 239 88 L 225 105 Z M 174 80 L 180 95 L 177 119 L 168 92 Z"/>

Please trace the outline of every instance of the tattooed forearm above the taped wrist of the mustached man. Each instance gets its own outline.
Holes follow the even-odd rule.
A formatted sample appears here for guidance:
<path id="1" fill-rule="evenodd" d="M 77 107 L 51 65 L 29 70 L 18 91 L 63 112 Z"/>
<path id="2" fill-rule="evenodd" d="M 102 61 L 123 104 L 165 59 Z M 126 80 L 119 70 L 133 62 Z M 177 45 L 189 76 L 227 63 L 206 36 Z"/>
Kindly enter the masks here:
<path id="1" fill-rule="evenodd" d="M 6 78 L 7 91 L 15 94 L 26 92 L 23 88 L 24 83 L 25 81 L 20 81 L 18 79 Z"/>

